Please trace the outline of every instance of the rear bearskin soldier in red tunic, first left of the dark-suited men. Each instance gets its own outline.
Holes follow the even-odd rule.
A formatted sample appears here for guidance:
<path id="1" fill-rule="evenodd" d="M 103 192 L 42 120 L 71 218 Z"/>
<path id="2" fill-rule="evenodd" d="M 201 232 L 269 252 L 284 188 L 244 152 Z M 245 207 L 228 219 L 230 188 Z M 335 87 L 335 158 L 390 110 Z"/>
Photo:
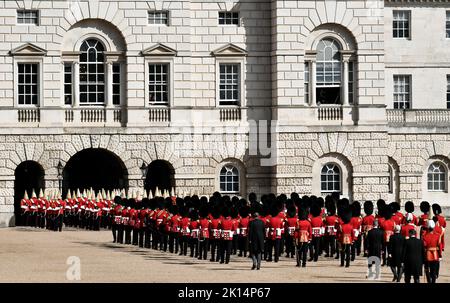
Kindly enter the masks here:
<path id="1" fill-rule="evenodd" d="M 342 224 L 339 225 L 337 237 L 341 245 L 341 266 L 344 266 L 345 261 L 345 267 L 349 267 L 351 246 L 356 239 L 353 225 L 350 223 L 352 213 L 348 206 L 342 206 L 339 210 L 339 215 L 342 219 Z"/>

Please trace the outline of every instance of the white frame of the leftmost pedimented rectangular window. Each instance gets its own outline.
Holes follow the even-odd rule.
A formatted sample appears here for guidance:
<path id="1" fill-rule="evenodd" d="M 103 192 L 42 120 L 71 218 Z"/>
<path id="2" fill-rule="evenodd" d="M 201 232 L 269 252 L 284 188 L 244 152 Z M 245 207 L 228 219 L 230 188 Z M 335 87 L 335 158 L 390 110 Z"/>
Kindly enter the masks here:
<path id="1" fill-rule="evenodd" d="M 38 65 L 38 100 L 37 104 L 19 104 L 19 64 L 37 64 Z M 43 105 L 44 97 L 44 60 L 42 57 L 15 57 L 14 58 L 14 106 L 20 108 L 36 108 Z"/>

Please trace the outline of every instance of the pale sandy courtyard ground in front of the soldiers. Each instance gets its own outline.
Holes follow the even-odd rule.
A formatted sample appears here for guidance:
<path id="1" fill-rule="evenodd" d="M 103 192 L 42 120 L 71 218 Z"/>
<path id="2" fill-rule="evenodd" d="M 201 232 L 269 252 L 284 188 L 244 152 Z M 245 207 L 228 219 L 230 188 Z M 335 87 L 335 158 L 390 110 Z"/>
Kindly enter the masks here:
<path id="1" fill-rule="evenodd" d="M 323 257 L 297 268 L 293 259 L 282 257 L 278 264 L 265 262 L 260 271 L 252 271 L 249 259 L 236 256 L 225 265 L 114 244 L 110 231 L 0 229 L 0 282 L 73 283 L 66 278 L 70 256 L 80 258 L 81 282 L 367 282 L 362 257 L 350 268 Z M 450 282 L 449 265 L 445 255 L 438 282 Z M 377 282 L 391 279 L 383 267 Z"/>

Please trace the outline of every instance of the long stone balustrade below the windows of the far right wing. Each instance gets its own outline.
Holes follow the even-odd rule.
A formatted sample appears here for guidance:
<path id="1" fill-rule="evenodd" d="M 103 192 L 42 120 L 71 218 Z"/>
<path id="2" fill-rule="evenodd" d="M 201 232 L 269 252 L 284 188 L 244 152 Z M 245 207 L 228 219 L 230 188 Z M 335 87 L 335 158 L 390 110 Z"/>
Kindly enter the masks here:
<path id="1" fill-rule="evenodd" d="M 450 110 L 446 109 L 387 109 L 389 124 L 450 126 Z"/>

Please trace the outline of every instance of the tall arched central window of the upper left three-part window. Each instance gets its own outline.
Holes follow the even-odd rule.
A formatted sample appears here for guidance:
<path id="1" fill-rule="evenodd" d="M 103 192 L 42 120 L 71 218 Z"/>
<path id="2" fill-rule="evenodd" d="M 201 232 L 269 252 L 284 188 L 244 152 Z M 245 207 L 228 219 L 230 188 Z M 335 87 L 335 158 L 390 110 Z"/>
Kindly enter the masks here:
<path id="1" fill-rule="evenodd" d="M 85 40 L 80 54 L 80 104 L 103 105 L 105 102 L 105 55 L 103 44 Z"/>

